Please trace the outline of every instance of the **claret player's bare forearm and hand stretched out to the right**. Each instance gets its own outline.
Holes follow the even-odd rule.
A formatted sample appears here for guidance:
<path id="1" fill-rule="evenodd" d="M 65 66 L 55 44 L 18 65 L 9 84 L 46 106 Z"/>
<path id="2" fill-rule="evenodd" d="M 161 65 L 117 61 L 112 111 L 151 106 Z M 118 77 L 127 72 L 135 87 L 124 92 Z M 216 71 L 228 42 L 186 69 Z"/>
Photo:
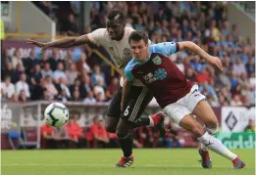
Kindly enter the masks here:
<path id="1" fill-rule="evenodd" d="M 223 71 L 222 61 L 218 57 L 213 57 L 213 56 L 209 55 L 207 52 L 205 52 L 203 49 L 201 49 L 198 45 L 196 45 L 190 41 L 178 42 L 178 44 L 179 44 L 179 51 L 180 50 L 189 50 L 189 51 L 197 54 L 201 58 L 203 58 L 211 66 L 217 66 L 220 70 Z"/>

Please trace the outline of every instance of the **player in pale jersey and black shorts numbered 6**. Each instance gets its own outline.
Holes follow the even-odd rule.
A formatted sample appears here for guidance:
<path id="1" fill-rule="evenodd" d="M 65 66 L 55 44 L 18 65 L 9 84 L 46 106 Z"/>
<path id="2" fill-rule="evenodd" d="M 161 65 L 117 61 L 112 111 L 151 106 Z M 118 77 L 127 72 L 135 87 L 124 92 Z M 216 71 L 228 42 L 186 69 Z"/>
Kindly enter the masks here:
<path id="1" fill-rule="evenodd" d="M 103 46 L 108 51 L 115 65 L 120 68 L 121 74 L 124 75 L 124 67 L 132 57 L 128 36 L 133 30 L 131 27 L 126 27 L 126 17 L 122 11 L 112 10 L 107 16 L 106 28 L 99 28 L 79 37 L 68 37 L 48 43 L 34 40 L 27 40 L 26 43 L 36 45 L 43 50 L 52 47 L 70 48 L 87 43 Z M 128 103 L 126 106 L 121 107 L 123 83 L 124 79 L 122 77 L 119 90 L 110 103 L 105 120 L 106 130 L 110 133 L 117 133 L 124 153 L 124 156 L 117 163 L 117 167 L 128 167 L 132 164 L 133 139 L 130 129 L 138 126 L 138 123 L 135 124 L 134 121 L 139 118 L 153 98 L 143 83 L 135 80 L 131 86 L 132 93 L 128 95 Z M 162 111 L 148 116 L 151 121 L 148 124 L 164 129 L 162 127 L 164 116 L 165 114 Z"/>

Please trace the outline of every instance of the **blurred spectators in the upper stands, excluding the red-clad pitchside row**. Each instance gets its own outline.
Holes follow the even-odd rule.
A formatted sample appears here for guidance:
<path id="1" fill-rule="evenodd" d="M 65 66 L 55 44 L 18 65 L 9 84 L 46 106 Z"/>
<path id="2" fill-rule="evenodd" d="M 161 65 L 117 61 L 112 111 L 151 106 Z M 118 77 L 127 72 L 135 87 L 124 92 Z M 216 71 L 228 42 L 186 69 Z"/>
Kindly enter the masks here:
<path id="1" fill-rule="evenodd" d="M 39 2 L 45 3 L 51 4 Z M 223 72 L 189 52 L 170 57 L 186 78 L 198 83 L 211 106 L 255 105 L 255 46 L 252 38 L 237 32 L 237 27 L 242 26 L 227 20 L 222 2 L 180 2 L 179 12 L 177 2 L 91 2 L 90 5 L 91 26 L 86 27 L 86 33 L 104 27 L 107 12 L 119 8 L 127 14 L 128 26 L 147 32 L 155 43 L 189 40 L 221 58 Z M 69 2 L 67 6 L 74 9 L 75 5 Z M 68 50 L 64 58 L 58 49 L 51 54 L 35 50 L 24 58 L 19 49 L 11 53 L 6 48 L 2 53 L 6 66 L 1 76 L 1 99 L 109 102 L 118 88 L 118 76 L 111 77 L 109 66 L 95 61 L 89 48 Z"/>

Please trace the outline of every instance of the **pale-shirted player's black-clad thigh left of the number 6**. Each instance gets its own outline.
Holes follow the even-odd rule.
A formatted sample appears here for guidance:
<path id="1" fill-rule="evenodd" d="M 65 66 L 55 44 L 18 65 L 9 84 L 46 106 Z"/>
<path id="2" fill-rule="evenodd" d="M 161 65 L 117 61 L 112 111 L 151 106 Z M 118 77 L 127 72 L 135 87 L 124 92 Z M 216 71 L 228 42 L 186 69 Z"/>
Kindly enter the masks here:
<path id="1" fill-rule="evenodd" d="M 116 132 L 117 124 L 121 116 L 122 87 L 120 86 L 107 110 L 105 127 L 108 132 Z"/>

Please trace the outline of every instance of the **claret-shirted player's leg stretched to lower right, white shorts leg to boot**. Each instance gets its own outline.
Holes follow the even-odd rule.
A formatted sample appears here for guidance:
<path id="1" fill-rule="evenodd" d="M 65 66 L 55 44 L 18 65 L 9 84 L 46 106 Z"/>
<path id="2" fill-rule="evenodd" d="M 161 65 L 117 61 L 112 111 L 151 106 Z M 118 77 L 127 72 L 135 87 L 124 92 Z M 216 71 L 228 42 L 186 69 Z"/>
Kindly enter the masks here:
<path id="1" fill-rule="evenodd" d="M 178 104 L 170 105 L 164 109 L 168 116 L 179 123 L 179 126 L 191 132 L 197 140 L 208 149 L 215 153 L 219 153 L 233 162 L 234 168 L 242 168 L 245 164 L 239 159 L 237 154 L 231 153 L 220 140 L 216 139 L 204 130 L 203 126 L 190 113 L 185 107 Z"/>

